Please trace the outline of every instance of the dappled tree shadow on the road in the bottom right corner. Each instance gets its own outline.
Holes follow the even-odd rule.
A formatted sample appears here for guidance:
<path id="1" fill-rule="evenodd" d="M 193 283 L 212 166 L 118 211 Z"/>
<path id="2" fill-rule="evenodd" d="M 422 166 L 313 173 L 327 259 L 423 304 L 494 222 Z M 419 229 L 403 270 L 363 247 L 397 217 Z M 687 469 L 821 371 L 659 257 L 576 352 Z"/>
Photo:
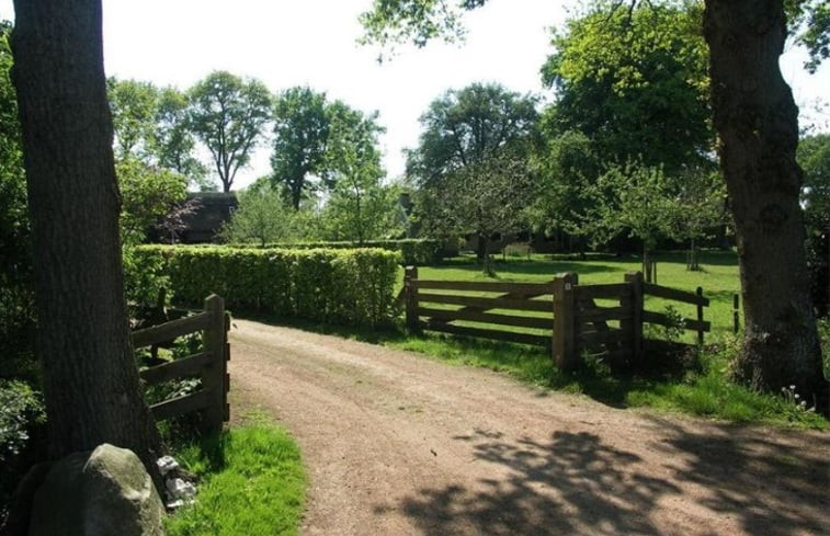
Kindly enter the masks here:
<path id="1" fill-rule="evenodd" d="M 793 536 L 830 533 L 830 435 L 812 433 L 794 441 L 780 432 L 735 424 L 714 432 L 690 432 L 682 424 L 652 418 L 671 430 L 666 446 L 680 452 L 687 468 L 678 479 L 708 490 L 698 503 L 736 517 L 747 534 Z"/>

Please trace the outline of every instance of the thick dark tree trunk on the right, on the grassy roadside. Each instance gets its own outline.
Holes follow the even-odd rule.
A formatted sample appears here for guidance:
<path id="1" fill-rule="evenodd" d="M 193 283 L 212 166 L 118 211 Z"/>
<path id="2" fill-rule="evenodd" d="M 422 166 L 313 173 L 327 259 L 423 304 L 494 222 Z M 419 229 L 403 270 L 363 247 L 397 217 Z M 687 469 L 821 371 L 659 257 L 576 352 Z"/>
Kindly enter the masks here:
<path id="1" fill-rule="evenodd" d="M 738 238 L 746 335 L 736 375 L 755 388 L 827 381 L 810 308 L 795 161 L 798 109 L 781 76 L 782 0 L 706 0 L 715 126 Z"/>

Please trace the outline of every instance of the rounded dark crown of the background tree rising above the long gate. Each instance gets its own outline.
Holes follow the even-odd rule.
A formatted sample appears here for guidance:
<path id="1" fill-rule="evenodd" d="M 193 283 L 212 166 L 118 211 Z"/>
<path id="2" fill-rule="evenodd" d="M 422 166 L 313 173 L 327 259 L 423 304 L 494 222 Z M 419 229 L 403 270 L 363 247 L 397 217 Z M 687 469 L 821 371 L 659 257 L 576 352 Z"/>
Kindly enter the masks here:
<path id="1" fill-rule="evenodd" d="M 429 185 L 447 173 L 494 156 L 527 137 L 537 119 L 535 100 L 491 83 L 447 91 L 421 116 L 418 148 L 409 152 L 407 174 Z"/>

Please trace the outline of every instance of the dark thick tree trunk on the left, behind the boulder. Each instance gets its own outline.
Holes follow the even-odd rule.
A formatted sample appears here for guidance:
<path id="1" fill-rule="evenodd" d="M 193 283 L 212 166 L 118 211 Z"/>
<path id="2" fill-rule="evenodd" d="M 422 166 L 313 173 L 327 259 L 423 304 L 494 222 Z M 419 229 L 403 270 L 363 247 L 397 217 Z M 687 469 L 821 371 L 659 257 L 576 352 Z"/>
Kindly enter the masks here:
<path id="1" fill-rule="evenodd" d="M 127 326 L 101 2 L 14 7 L 50 454 L 106 442 L 130 448 L 152 472 L 160 440 Z"/>

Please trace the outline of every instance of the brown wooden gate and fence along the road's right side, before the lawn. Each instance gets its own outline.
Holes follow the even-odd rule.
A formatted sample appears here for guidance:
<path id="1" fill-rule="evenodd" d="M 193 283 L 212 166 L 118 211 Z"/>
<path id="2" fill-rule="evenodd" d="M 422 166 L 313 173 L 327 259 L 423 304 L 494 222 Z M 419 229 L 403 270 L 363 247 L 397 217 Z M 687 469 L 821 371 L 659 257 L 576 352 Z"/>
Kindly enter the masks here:
<path id="1" fill-rule="evenodd" d="M 652 285 L 645 283 L 640 273 L 626 274 L 623 283 L 578 283 L 572 273 L 548 283 L 425 281 L 418 278 L 418 269 L 409 266 L 403 280 L 407 328 L 550 346 L 561 369 L 575 368 L 583 352 L 638 362 L 644 354 L 645 323 L 695 331 L 701 344 L 710 330 L 703 312 L 709 300 L 703 297 L 702 288 L 693 294 Z M 482 293 L 496 296 L 484 297 Z M 647 296 L 692 304 L 695 318 L 678 319 L 646 310 Z M 604 305 L 598 305 L 598 300 Z M 488 312 L 492 310 L 499 312 Z M 499 329 L 503 327 L 511 330 Z"/>

